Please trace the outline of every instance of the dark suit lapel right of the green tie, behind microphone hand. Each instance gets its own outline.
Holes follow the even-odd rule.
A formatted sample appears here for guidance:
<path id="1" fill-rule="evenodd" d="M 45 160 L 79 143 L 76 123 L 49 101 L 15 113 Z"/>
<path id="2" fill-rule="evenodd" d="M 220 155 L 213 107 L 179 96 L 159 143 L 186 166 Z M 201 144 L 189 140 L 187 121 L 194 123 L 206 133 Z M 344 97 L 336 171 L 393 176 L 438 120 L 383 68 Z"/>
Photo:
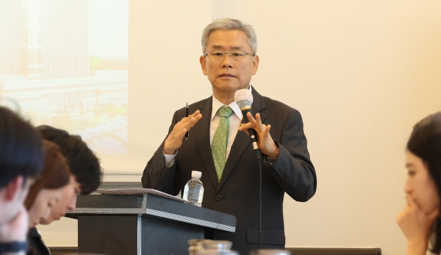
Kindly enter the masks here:
<path id="1" fill-rule="evenodd" d="M 256 113 L 260 113 L 260 119 L 262 120 L 262 123 L 265 124 L 265 119 L 267 118 L 267 115 L 265 113 L 261 113 L 263 109 L 265 109 L 265 102 L 263 101 L 263 96 L 260 96 L 259 93 L 257 93 L 256 89 L 252 89 L 253 93 L 253 104 L 252 104 L 252 113 L 254 118 L 256 118 Z M 220 182 L 217 190 L 220 190 L 220 188 L 225 184 L 225 181 L 227 180 L 230 173 L 232 173 L 232 170 L 234 169 L 234 166 L 236 166 L 237 162 L 239 161 L 240 157 L 242 157 L 243 153 L 249 146 L 249 143 L 251 140 L 249 139 L 249 135 L 243 131 L 238 131 L 236 138 L 234 138 L 234 142 L 232 144 L 232 148 L 229 151 L 227 162 L 225 163 L 225 168 L 223 169 L 222 177 L 220 177 Z M 213 161 L 213 160 L 212 160 Z M 214 163 L 213 167 L 214 167 Z M 216 176 L 216 174 L 215 174 Z"/>

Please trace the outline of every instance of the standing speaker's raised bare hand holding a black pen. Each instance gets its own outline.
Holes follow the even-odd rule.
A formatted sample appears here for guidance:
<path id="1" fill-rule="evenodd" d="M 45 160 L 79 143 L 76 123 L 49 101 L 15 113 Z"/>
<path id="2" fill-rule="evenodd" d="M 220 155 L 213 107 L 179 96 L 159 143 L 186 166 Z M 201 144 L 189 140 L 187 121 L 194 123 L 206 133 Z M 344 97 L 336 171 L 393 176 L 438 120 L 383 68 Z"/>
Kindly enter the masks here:
<path id="1" fill-rule="evenodd" d="M 201 118 L 202 114 L 198 110 L 192 115 L 184 117 L 180 122 L 176 123 L 173 127 L 172 133 L 170 133 L 167 139 L 165 139 L 163 148 L 164 153 L 173 155 L 178 148 L 181 148 L 185 133 L 187 133 L 187 131 L 189 131 L 194 124 L 201 120 Z"/>

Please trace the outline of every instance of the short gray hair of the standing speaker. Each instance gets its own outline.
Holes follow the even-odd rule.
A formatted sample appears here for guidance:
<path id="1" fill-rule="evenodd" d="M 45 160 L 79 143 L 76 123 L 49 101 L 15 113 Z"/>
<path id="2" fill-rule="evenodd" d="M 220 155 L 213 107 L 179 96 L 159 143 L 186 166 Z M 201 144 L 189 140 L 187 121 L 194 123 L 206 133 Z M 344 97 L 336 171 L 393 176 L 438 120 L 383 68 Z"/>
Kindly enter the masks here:
<path id="1" fill-rule="evenodd" d="M 254 31 L 252 25 L 243 23 L 238 19 L 229 19 L 229 18 L 216 19 L 216 21 L 212 21 L 212 23 L 209 23 L 205 27 L 204 31 L 202 32 L 202 39 L 201 39 L 203 54 L 206 53 L 205 49 L 207 48 L 209 35 L 216 30 L 239 30 L 245 32 L 248 38 L 249 47 L 251 47 L 251 52 L 253 55 L 256 54 L 257 37 L 256 37 L 256 31 Z"/>

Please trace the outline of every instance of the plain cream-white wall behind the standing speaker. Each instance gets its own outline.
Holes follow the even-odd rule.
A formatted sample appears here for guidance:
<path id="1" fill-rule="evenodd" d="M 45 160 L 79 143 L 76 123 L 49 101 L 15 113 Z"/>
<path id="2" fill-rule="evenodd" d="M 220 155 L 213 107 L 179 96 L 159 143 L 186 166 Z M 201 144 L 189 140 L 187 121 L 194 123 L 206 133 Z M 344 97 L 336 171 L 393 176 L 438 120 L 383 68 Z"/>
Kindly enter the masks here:
<path id="1" fill-rule="evenodd" d="M 211 95 L 198 64 L 203 27 L 243 19 L 258 36 L 252 85 L 302 113 L 318 176 L 307 203 L 285 197 L 287 247 L 404 254 L 404 147 L 413 124 L 441 109 L 440 12 L 441 2 L 417 0 L 130 0 L 130 107 L 156 109 L 134 120 L 145 162 L 172 113 Z M 39 229 L 50 246 L 76 246 L 75 221 Z"/>

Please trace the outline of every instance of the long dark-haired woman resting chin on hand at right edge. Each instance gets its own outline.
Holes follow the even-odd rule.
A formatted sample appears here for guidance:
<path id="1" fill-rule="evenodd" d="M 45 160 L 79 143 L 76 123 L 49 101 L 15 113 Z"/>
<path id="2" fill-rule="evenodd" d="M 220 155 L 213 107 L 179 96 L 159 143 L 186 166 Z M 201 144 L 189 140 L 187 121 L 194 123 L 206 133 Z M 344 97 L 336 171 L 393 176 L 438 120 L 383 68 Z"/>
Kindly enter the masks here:
<path id="1" fill-rule="evenodd" d="M 406 206 L 398 225 L 407 238 L 407 254 L 441 252 L 441 112 L 418 122 L 407 142 Z M 429 244 L 430 243 L 430 244 Z"/>

